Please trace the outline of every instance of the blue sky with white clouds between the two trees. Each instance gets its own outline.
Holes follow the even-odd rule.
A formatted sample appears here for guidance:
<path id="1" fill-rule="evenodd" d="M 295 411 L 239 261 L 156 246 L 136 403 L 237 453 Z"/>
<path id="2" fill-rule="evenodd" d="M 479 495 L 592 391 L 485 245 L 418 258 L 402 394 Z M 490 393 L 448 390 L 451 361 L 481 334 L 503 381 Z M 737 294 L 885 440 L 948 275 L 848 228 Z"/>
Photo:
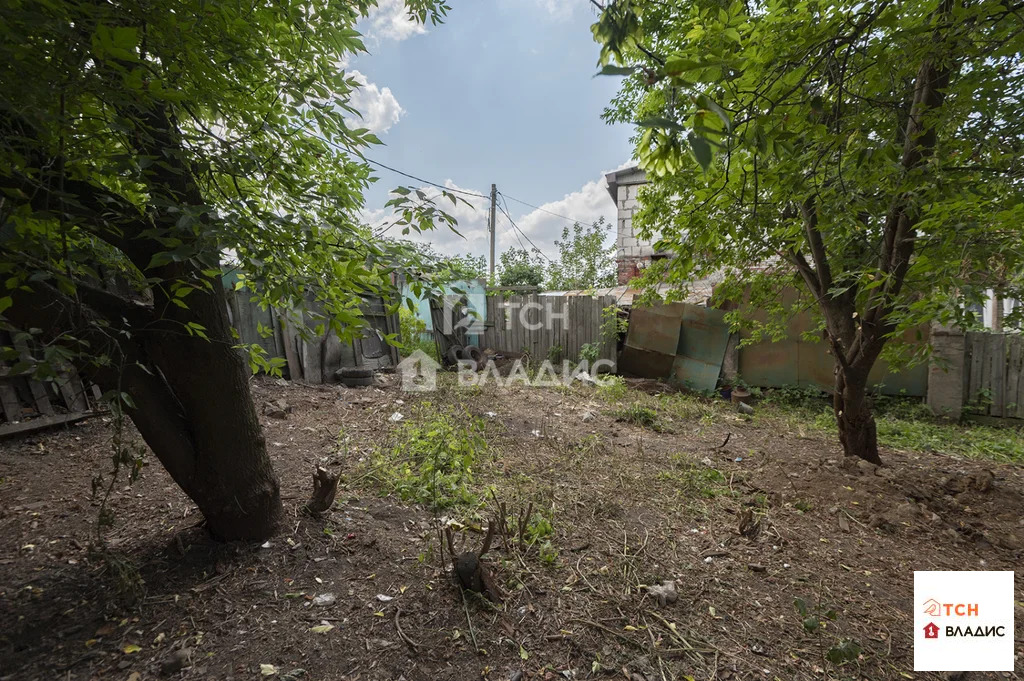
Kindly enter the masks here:
<path id="1" fill-rule="evenodd" d="M 512 246 L 530 248 L 532 241 L 554 257 L 554 241 L 571 226 L 566 217 L 590 223 L 603 216 L 613 225 L 615 206 L 604 174 L 629 165 L 631 130 L 600 119 L 620 79 L 593 77 L 598 46 L 590 33 L 592 5 L 450 4 L 447 20 L 436 27 L 410 22 L 401 0 L 379 0 L 360 24 L 369 53 L 347 62 L 349 75 L 362 84 L 352 104 L 362 113 L 358 123 L 384 142 L 368 156 L 480 195 L 497 184 L 504 197 L 499 205 L 507 205 L 522 232 L 499 211 L 499 254 Z M 391 188 L 420 185 L 387 170 L 376 174 L 380 180 L 367 193 L 364 216 L 371 224 L 386 217 Z M 486 255 L 488 201 L 463 198 L 471 206 L 449 211 L 463 237 L 435 230 L 419 240 L 446 255 Z M 613 241 L 609 233 L 608 244 Z"/>

